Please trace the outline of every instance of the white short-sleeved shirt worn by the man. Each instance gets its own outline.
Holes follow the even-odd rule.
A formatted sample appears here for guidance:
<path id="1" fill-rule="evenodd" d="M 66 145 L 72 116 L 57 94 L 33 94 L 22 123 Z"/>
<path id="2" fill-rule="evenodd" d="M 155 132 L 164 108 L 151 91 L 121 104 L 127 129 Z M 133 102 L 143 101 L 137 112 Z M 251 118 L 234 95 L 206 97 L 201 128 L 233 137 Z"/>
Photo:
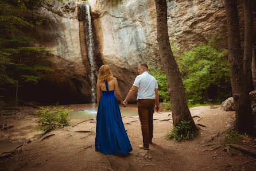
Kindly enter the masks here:
<path id="1" fill-rule="evenodd" d="M 133 85 L 138 87 L 137 100 L 156 99 L 154 91 L 158 88 L 157 80 L 148 71 L 138 75 Z"/>

